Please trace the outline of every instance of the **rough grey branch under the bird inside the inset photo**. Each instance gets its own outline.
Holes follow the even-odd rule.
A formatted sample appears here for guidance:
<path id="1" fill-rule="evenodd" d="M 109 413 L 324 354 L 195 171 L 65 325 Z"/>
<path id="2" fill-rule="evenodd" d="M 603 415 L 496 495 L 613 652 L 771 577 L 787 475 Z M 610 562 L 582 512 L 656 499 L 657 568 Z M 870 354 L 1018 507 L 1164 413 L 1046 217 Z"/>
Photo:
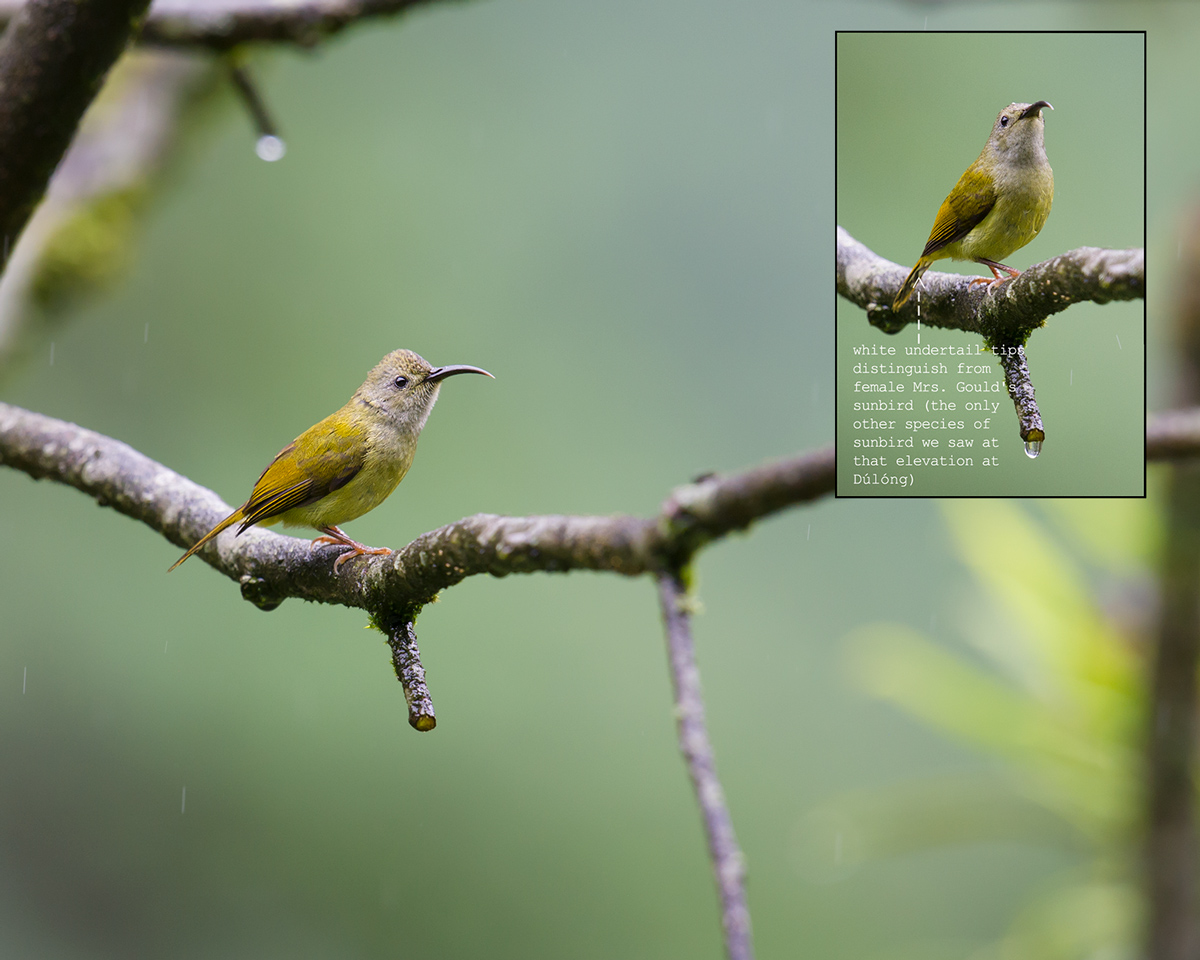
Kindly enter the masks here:
<path id="1" fill-rule="evenodd" d="M 886 260 L 838 228 L 838 293 L 865 310 L 884 332 L 917 322 L 916 295 L 899 313 L 892 311 L 907 274 L 908 266 Z M 924 325 L 979 334 L 989 344 L 1016 346 L 1072 304 L 1145 299 L 1146 254 L 1140 248 L 1079 247 L 1033 264 L 1015 280 L 973 283 L 958 274 L 929 271 L 918 289 Z"/>

